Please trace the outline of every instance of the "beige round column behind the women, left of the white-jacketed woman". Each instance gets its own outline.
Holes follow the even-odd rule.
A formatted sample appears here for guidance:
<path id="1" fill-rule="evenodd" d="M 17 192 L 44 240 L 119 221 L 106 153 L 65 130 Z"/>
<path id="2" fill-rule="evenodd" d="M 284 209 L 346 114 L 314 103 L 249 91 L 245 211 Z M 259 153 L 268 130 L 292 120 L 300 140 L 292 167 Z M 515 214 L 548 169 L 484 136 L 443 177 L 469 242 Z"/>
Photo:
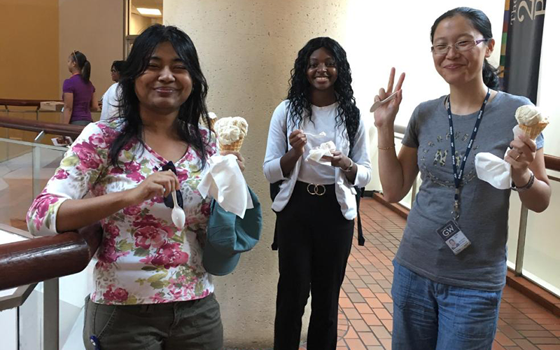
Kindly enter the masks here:
<path id="1" fill-rule="evenodd" d="M 278 267 L 270 250 L 274 213 L 262 175 L 269 120 L 286 97 L 304 43 L 315 36 L 344 39 L 345 2 L 164 1 L 164 23 L 179 26 L 195 42 L 209 82 L 209 109 L 218 117 L 243 116 L 249 124 L 241 150 L 245 177 L 262 202 L 265 226 L 237 270 L 215 279 L 228 346 L 272 344 Z"/>

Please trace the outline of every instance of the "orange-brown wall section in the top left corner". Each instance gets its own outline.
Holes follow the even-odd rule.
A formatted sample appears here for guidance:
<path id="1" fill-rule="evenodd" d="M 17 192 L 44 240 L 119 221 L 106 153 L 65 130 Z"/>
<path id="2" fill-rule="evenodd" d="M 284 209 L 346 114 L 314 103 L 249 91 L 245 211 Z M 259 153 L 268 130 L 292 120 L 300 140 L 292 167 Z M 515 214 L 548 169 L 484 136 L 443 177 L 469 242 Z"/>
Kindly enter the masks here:
<path id="1" fill-rule="evenodd" d="M 0 98 L 60 99 L 58 0 L 0 0 Z"/>

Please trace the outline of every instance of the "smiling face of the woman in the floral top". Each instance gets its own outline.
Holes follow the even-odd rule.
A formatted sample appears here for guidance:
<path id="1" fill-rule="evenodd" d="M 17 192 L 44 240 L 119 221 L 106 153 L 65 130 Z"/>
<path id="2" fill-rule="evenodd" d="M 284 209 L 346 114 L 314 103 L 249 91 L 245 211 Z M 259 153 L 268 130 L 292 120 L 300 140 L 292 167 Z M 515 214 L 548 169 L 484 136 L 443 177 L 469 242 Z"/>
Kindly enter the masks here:
<path id="1" fill-rule="evenodd" d="M 169 42 L 156 46 L 144 73 L 134 80 L 140 107 L 171 113 L 179 111 L 193 91 L 193 79 Z"/>

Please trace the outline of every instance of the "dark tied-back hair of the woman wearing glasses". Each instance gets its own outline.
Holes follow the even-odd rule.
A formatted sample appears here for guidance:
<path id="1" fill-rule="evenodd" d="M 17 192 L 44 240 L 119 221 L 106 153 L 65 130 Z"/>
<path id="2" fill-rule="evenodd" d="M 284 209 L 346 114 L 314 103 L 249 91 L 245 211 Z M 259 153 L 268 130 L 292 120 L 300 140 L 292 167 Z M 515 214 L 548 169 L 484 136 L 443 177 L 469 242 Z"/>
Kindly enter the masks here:
<path id="1" fill-rule="evenodd" d="M 488 17 L 484 14 L 484 12 L 470 7 L 458 7 L 454 8 L 453 10 L 447 11 L 443 15 L 440 15 L 440 17 L 438 17 L 437 20 L 433 22 L 432 29 L 430 31 L 430 41 L 432 43 L 433 34 L 435 33 L 437 25 L 439 25 L 442 20 L 456 15 L 461 15 L 464 18 L 470 20 L 472 27 L 475 27 L 475 29 L 477 29 L 477 31 L 482 34 L 483 38 L 492 38 L 492 24 Z M 500 86 L 498 80 L 498 72 L 499 70 L 489 64 L 488 60 L 485 58 L 484 66 L 482 66 L 482 80 L 484 81 L 484 85 L 490 87 L 491 89 L 498 90 Z"/>

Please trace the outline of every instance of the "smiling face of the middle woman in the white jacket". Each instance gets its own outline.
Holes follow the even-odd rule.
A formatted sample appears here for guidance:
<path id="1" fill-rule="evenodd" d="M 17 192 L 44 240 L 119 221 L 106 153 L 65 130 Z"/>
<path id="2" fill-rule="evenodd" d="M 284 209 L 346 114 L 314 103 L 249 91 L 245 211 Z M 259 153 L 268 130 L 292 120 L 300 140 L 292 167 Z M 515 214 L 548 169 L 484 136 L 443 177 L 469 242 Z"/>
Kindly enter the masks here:
<path id="1" fill-rule="evenodd" d="M 331 52 L 318 48 L 311 53 L 307 64 L 307 80 L 311 89 L 334 91 L 337 76 L 337 65 Z"/>

